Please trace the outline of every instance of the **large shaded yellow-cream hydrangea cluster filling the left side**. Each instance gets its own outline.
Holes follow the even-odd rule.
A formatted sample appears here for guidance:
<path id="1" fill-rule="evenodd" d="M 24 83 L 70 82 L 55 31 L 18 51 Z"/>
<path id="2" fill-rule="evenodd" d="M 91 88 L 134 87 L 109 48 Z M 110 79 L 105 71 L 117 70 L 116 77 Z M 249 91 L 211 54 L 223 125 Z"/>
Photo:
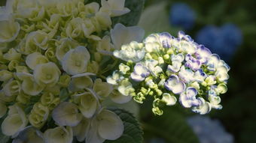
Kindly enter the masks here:
<path id="1" fill-rule="evenodd" d="M 0 7 L 0 118 L 5 136 L 14 143 L 72 143 L 73 137 L 102 143 L 123 134 L 119 116 L 101 105 L 106 97 L 117 103 L 123 98 L 102 80 L 109 65 L 101 61 L 121 44 L 144 36 L 136 26 L 118 23 L 111 29 L 111 17 L 130 12 L 124 3 L 8 0 Z"/>

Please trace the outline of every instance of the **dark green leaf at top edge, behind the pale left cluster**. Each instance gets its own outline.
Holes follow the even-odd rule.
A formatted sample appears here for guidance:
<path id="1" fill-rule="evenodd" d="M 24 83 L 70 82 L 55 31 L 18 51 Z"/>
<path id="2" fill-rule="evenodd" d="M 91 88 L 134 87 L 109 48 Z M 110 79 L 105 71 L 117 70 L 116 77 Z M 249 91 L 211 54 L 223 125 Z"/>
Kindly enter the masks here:
<path id="1" fill-rule="evenodd" d="M 126 26 L 137 25 L 144 8 L 145 0 L 126 0 L 125 7 L 129 8 L 130 13 L 117 16 L 112 19 L 113 25 L 118 22 Z"/>

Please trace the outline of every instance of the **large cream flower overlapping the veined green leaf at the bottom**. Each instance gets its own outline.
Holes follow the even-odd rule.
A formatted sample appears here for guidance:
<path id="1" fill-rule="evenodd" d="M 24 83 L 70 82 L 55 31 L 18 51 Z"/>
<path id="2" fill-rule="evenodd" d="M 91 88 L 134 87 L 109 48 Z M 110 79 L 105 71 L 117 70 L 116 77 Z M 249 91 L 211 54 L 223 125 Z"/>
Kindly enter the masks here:
<path id="1" fill-rule="evenodd" d="M 123 121 L 114 112 L 102 109 L 92 119 L 87 133 L 87 143 L 102 143 L 107 140 L 116 140 L 123 135 Z"/>

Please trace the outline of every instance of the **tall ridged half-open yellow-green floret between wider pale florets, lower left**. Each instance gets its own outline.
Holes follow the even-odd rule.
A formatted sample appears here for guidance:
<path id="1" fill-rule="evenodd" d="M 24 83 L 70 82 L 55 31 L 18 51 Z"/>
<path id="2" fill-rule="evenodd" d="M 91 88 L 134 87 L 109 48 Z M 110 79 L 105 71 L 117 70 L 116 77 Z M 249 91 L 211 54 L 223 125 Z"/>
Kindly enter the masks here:
<path id="1" fill-rule="evenodd" d="M 29 123 L 33 127 L 40 129 L 47 121 L 49 113 L 47 106 L 43 106 L 41 103 L 35 103 L 29 115 Z"/>

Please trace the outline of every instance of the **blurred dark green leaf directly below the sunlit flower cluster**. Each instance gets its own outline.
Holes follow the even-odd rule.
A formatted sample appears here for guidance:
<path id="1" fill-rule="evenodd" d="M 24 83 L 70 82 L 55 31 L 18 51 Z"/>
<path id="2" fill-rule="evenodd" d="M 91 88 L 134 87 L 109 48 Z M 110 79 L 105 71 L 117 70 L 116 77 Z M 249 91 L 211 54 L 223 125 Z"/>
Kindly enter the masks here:
<path id="1" fill-rule="evenodd" d="M 165 109 L 163 115 L 147 118 L 143 124 L 145 136 L 157 136 L 169 143 L 198 143 L 199 140 L 184 116 L 175 109 Z"/>

